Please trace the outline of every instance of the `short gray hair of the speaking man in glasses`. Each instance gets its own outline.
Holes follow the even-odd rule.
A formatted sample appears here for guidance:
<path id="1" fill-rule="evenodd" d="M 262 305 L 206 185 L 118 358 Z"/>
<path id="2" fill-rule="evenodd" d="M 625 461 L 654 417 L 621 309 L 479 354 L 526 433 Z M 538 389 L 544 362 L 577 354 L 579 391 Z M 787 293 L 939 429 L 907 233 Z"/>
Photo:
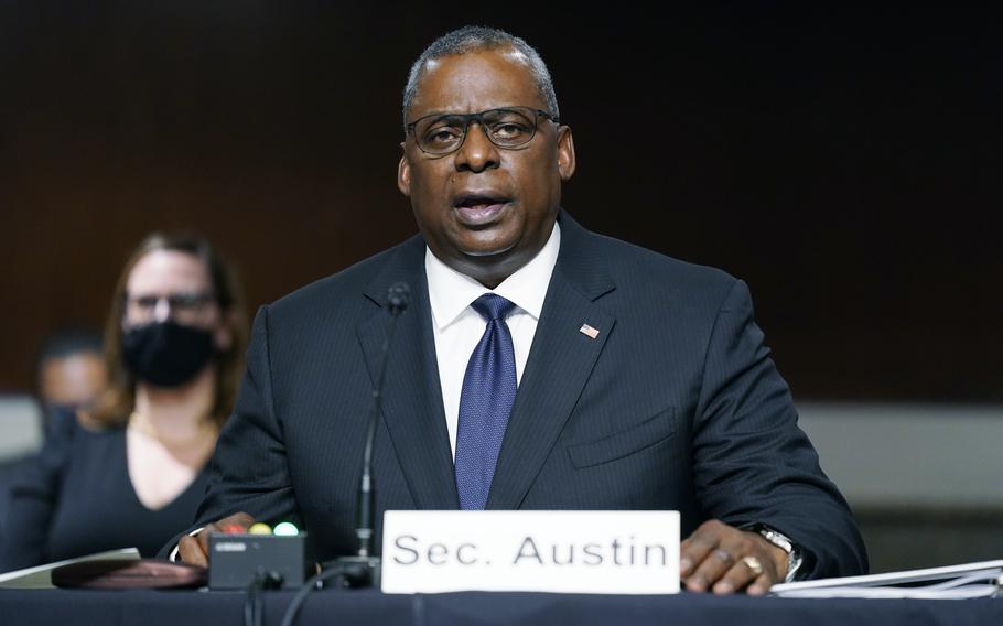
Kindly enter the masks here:
<path id="1" fill-rule="evenodd" d="M 418 82 L 424 75 L 425 64 L 429 61 L 453 54 L 466 54 L 482 50 L 497 50 L 499 47 L 513 47 L 526 57 L 529 71 L 532 73 L 537 88 L 540 90 L 540 96 L 547 102 L 547 112 L 554 118 L 559 118 L 561 114 L 558 110 L 558 97 L 553 93 L 553 82 L 550 79 L 550 72 L 547 71 L 547 64 L 543 63 L 540 53 L 536 48 L 521 37 L 503 30 L 486 26 L 463 26 L 433 41 L 421 53 L 418 61 L 411 65 L 411 72 L 408 74 L 408 84 L 405 87 L 402 109 L 405 127 L 408 125 L 408 111 L 411 109 L 411 105 L 414 104 L 414 95 L 418 93 Z"/>

